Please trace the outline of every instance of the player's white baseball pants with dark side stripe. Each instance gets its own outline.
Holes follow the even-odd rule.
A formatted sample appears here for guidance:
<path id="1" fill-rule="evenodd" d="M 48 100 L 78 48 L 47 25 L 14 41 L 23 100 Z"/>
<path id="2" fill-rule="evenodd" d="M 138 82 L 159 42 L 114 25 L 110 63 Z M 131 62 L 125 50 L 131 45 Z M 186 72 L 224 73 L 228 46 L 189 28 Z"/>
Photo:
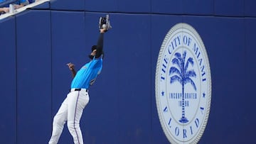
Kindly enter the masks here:
<path id="1" fill-rule="evenodd" d="M 53 132 L 49 144 L 58 143 L 66 121 L 68 121 L 68 131 L 70 131 L 70 134 L 73 136 L 74 143 L 83 144 L 82 132 L 80 130 L 80 118 L 88 102 L 89 94 L 86 89 L 81 89 L 80 91 L 71 89 L 53 118 Z"/>

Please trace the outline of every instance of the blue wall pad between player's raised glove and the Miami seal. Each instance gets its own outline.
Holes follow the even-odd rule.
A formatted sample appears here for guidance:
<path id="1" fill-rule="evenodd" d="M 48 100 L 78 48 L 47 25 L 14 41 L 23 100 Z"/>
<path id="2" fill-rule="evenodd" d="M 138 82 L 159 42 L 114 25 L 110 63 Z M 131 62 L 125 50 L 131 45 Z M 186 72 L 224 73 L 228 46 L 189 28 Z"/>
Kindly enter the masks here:
<path id="1" fill-rule="evenodd" d="M 113 33 L 119 48 L 119 143 L 150 143 L 150 88 L 154 82 L 150 79 L 151 18 L 136 14 L 120 14 L 117 18 L 119 25 Z"/>

